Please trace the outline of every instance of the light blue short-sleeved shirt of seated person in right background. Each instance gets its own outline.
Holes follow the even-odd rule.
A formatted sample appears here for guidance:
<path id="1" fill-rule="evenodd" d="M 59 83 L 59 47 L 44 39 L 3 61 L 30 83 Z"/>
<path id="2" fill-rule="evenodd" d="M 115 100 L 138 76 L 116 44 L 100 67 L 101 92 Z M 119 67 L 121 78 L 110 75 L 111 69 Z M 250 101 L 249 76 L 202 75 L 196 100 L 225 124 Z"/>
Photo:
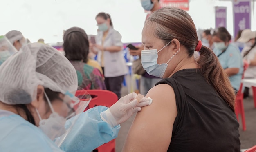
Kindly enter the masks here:
<path id="1" fill-rule="evenodd" d="M 213 52 L 215 53 L 216 56 L 218 56 L 220 53 L 222 53 L 222 50 L 214 48 Z M 239 48 L 234 44 L 229 44 L 226 51 L 222 53 L 222 55 L 220 55 L 218 59 L 220 61 L 222 68 L 224 69 L 239 68 L 239 72 L 236 75 L 232 75 L 229 77 L 231 85 L 238 91 L 240 88 L 243 74 L 243 59 L 240 54 Z"/>

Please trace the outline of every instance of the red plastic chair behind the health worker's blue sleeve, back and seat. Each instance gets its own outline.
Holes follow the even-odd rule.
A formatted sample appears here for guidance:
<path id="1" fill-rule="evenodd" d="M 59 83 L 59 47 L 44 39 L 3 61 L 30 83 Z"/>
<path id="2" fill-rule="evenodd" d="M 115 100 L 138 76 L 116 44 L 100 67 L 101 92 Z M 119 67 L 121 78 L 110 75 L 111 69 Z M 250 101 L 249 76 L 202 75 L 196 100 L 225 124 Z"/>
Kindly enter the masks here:
<path id="1" fill-rule="evenodd" d="M 118 97 L 115 93 L 108 90 L 86 90 L 91 96 L 88 108 L 95 106 L 106 106 L 110 107 L 118 101 Z M 77 90 L 76 95 L 83 94 L 83 90 Z M 88 110 L 86 108 L 85 110 Z M 98 152 L 115 152 L 115 139 L 99 146 L 96 150 Z"/>

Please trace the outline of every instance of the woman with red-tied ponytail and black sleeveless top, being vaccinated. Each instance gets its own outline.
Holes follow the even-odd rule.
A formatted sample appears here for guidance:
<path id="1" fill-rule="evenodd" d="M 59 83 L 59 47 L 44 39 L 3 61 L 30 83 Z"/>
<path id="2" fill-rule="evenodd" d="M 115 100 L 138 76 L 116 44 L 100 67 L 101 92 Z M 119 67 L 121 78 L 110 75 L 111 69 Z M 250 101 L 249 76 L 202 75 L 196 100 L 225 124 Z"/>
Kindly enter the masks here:
<path id="1" fill-rule="evenodd" d="M 137 113 L 122 152 L 240 152 L 234 90 L 189 13 L 155 11 L 142 42 L 143 68 L 164 79 L 148 91 L 154 102 Z"/>

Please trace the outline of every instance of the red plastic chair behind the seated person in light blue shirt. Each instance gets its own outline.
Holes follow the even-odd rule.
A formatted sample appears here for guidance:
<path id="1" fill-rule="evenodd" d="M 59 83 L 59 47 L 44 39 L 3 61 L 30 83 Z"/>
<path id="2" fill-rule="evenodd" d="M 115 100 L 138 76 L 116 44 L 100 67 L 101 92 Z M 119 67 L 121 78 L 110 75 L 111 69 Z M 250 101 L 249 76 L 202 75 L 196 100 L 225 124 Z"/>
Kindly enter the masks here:
<path id="1" fill-rule="evenodd" d="M 243 66 L 244 71 L 243 71 L 242 79 L 244 78 L 244 73 L 245 73 L 245 70 L 248 68 L 248 66 L 249 66 L 249 64 L 246 61 L 244 61 L 244 66 Z M 235 113 L 236 113 L 237 121 L 239 121 L 238 115 L 241 114 L 243 131 L 245 131 L 246 130 L 245 109 L 244 109 L 244 104 L 243 104 L 244 93 L 242 93 L 242 88 L 243 88 L 243 83 L 241 83 L 238 93 L 236 94 Z"/>

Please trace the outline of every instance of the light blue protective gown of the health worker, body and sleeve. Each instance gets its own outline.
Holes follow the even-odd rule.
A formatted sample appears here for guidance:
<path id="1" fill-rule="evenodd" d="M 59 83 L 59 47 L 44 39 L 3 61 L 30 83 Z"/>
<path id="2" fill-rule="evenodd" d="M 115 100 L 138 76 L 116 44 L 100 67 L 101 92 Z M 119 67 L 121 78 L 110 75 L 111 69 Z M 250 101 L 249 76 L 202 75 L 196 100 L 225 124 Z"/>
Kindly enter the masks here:
<path id="1" fill-rule="evenodd" d="M 0 110 L 0 151 L 91 152 L 103 143 L 115 139 L 119 132 L 120 125 L 111 127 L 101 119 L 100 113 L 107 109 L 97 106 L 81 113 L 61 148 L 20 115 Z"/>

